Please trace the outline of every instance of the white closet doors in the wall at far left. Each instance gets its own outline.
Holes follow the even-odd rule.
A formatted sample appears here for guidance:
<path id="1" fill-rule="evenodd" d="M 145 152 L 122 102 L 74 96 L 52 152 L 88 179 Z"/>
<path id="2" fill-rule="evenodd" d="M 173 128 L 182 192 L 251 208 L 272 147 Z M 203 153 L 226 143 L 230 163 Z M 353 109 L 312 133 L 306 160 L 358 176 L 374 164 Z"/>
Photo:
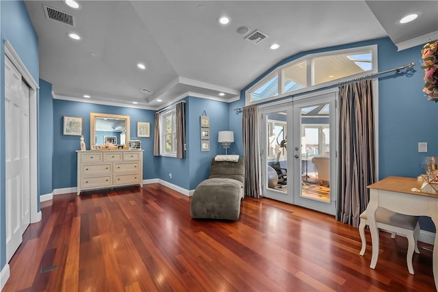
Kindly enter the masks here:
<path id="1" fill-rule="evenodd" d="M 21 74 L 5 56 L 6 259 L 29 225 L 29 88 L 23 97 Z M 25 85 L 27 87 L 27 85 Z M 27 92 L 27 93 L 26 93 Z M 23 106 L 24 105 L 24 106 Z M 23 112 L 25 114 L 23 114 Z M 27 122 L 24 122 L 27 116 Z M 23 138 L 26 137 L 26 138 Z M 27 162 L 26 162 L 27 161 Z M 27 165 L 27 170 L 25 169 Z M 25 186 L 27 185 L 27 187 Z"/>

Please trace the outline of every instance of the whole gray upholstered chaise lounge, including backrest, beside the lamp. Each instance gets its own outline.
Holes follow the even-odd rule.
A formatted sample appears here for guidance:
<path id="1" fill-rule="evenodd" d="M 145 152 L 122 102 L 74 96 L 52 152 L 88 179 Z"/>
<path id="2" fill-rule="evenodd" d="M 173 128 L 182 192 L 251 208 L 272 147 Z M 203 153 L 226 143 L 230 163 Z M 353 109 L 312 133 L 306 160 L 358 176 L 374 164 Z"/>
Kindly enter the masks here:
<path id="1" fill-rule="evenodd" d="M 211 160 L 209 178 L 194 190 L 190 201 L 192 218 L 237 220 L 244 198 L 245 163 Z"/>

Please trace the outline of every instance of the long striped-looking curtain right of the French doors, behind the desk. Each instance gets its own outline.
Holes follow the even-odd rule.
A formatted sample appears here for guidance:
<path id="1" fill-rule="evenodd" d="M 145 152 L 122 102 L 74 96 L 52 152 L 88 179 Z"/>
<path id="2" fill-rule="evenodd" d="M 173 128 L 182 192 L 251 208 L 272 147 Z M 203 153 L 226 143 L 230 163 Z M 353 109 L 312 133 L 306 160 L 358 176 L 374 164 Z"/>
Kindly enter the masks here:
<path id="1" fill-rule="evenodd" d="M 339 87 L 339 172 L 336 219 L 359 226 L 376 181 L 372 81 Z"/>

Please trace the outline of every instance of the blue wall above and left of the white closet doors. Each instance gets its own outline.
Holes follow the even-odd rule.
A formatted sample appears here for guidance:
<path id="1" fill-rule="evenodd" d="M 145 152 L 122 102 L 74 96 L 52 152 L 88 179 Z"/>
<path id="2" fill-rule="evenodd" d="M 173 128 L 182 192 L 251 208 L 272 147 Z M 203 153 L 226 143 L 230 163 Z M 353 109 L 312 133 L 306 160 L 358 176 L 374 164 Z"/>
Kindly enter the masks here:
<path id="1" fill-rule="evenodd" d="M 5 50 L 9 40 L 32 77 L 38 82 L 38 37 L 23 1 L 0 1 L 0 271 L 6 264 L 5 246 Z M 37 94 L 38 98 L 38 94 Z"/>

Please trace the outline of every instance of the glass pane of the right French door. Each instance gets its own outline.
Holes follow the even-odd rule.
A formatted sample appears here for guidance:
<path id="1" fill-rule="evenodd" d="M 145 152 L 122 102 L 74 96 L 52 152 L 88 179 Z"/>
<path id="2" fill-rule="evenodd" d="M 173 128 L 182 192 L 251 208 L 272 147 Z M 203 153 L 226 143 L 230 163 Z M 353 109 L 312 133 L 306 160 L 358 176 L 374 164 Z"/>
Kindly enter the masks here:
<path id="1" fill-rule="evenodd" d="M 330 104 L 300 109 L 301 197 L 330 202 Z"/>

